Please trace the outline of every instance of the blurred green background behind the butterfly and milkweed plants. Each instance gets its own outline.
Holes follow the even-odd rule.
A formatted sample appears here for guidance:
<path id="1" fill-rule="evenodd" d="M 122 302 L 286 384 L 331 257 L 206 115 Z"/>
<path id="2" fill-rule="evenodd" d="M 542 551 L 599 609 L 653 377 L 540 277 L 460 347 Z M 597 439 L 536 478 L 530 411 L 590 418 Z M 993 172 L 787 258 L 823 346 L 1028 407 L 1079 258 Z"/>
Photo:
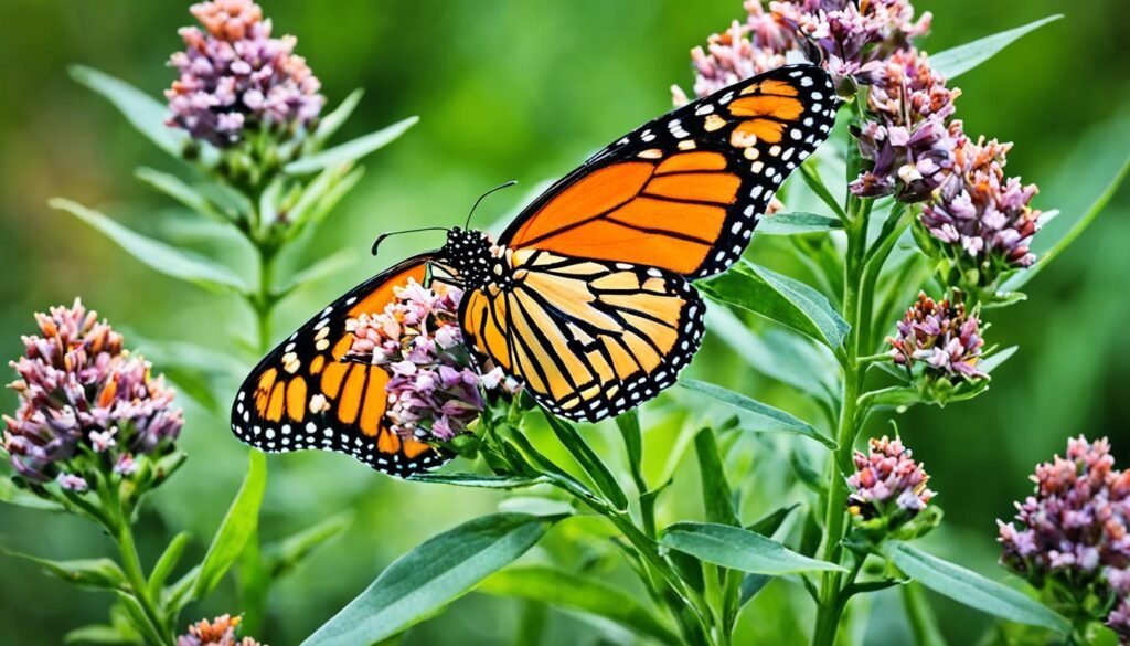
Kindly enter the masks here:
<path id="1" fill-rule="evenodd" d="M 692 83 L 687 51 L 744 15 L 737 0 L 267 0 L 263 6 L 276 34 L 299 37 L 298 53 L 321 78 L 331 106 L 353 88 L 365 88 L 344 137 L 411 114 L 421 118 L 402 139 L 367 160 L 362 184 L 320 233 L 318 253 L 348 247 L 357 251 L 357 261 L 286 301 L 276 319 L 277 336 L 390 258 L 438 242 L 426 236 L 390 241 L 388 257 L 374 260 L 367 249 L 379 232 L 453 223 L 483 190 L 518 179 L 525 189 L 496 196 L 480 212 L 481 223 L 490 222 L 519 206 L 532 186 L 667 111 L 668 87 Z M 1054 225 L 1069 225 L 1130 141 L 1124 1 L 935 0 L 919 2 L 918 9 L 936 12 L 933 32 L 922 43 L 928 51 L 1067 14 L 955 85 L 964 92 L 958 114 L 966 130 L 1016 141 L 1008 170 L 1037 182 L 1037 205 L 1061 208 Z M 47 198 L 63 195 L 139 229 L 175 229 L 169 223 L 177 214 L 132 176 L 138 165 L 175 164 L 113 107 L 72 83 L 66 67 L 89 64 L 157 95 L 172 80 L 164 63 L 180 46 L 176 28 L 191 21 L 188 2 L 0 0 L 0 258 L 6 267 L 0 355 L 21 351 L 19 335 L 32 331 L 33 311 L 81 295 L 132 333 L 129 344 L 142 352 L 144 338 L 188 339 L 251 361 L 235 353 L 231 341 L 233 334 L 251 335 L 250 313 L 240 302 L 155 275 L 69 215 L 46 207 Z M 1103 149 L 1105 156 L 1095 152 Z M 1087 433 L 1110 436 L 1120 463 L 1130 464 L 1130 344 L 1123 327 L 1130 316 L 1128 215 L 1130 193 L 1123 190 L 1031 285 L 1028 302 L 988 312 L 990 341 L 1022 347 L 994 373 L 991 393 L 942 411 L 915 410 L 899 420 L 946 509 L 945 531 L 931 536 L 933 551 L 1002 578 L 993 565 L 993 520 L 1009 516 L 1011 501 L 1029 490 L 1027 474 L 1035 462 L 1062 451 L 1067 436 Z M 712 369 L 721 370 L 716 365 L 699 361 L 697 376 L 714 378 Z M 725 370 L 751 394 L 805 408 L 803 402 L 790 405 L 779 387 L 742 374 L 739 365 Z M 234 386 L 226 385 L 228 393 Z M 0 404 L 11 411 L 15 397 L 6 393 Z M 142 557 L 150 561 L 183 528 L 197 536 L 190 555 L 200 557 L 243 475 L 245 449 L 224 419 L 186 398 L 184 405 L 189 422 L 182 447 L 190 460 L 142 513 Z M 875 433 L 887 430 L 876 421 Z M 758 479 L 749 486 L 762 490 L 755 500 L 764 507 L 753 503 L 747 516 L 780 503 L 772 500 L 781 489 L 773 479 L 788 467 L 774 463 L 780 459 L 772 450 L 775 441 L 748 447 Z M 615 442 L 605 443 L 615 453 Z M 667 447 L 651 441 L 647 450 L 660 459 Z M 393 481 L 341 456 L 272 458 L 271 471 L 266 539 L 334 514 L 356 515 L 341 540 L 275 588 L 262 637 L 276 645 L 299 641 L 420 540 L 497 502 L 493 494 Z M 684 480 L 695 477 L 688 470 L 679 473 Z M 694 513 L 694 486 L 689 482 L 664 508 L 667 519 L 681 509 Z M 563 524 L 540 549 L 566 562 L 605 559 L 603 552 L 570 548 L 582 525 Z M 98 555 L 108 546 L 77 520 L 9 507 L 0 507 L 0 544 L 55 558 Z M 104 618 L 104 596 L 78 592 L 14 559 L 0 560 L 0 643 L 54 644 L 68 629 Z M 237 612 L 229 587 L 203 608 L 190 608 L 185 622 Z M 790 610 L 807 606 L 798 591 L 780 583 L 768 588 L 747 612 L 746 623 L 760 626 L 747 635 L 773 631 L 785 643 L 796 639 L 807 629 L 808 612 Z M 985 617 L 937 601 L 951 643 L 971 643 L 985 629 Z M 876 596 L 870 643 L 906 638 L 892 605 L 896 602 Z M 527 610 L 470 595 L 405 643 L 511 643 Z M 548 621 L 546 643 L 616 638 L 574 615 L 555 612 Z"/>

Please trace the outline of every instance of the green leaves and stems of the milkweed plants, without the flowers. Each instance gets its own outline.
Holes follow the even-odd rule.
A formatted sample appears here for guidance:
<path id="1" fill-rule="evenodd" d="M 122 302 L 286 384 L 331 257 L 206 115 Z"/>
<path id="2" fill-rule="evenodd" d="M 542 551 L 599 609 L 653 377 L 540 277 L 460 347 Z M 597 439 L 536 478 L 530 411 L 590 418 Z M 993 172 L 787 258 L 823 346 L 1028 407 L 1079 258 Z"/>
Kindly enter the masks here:
<path id="1" fill-rule="evenodd" d="M 939 53 L 931 61 L 948 66 L 941 68 L 949 76 L 967 72 L 1045 21 Z M 179 131 L 158 122 L 164 120 L 164 106 L 105 74 L 75 68 L 72 75 L 110 100 L 146 138 L 181 158 L 186 141 Z M 324 264 L 293 270 L 288 255 L 301 253 L 310 244 L 334 206 L 357 184 L 359 158 L 416 122 L 410 118 L 345 144 L 329 145 L 327 140 L 359 101 L 359 91 L 350 94 L 340 107 L 322 117 L 310 139 L 296 148 L 301 152 L 295 157 L 250 183 L 246 175 L 225 175 L 227 166 L 219 161 L 223 153 L 207 146 L 192 152 L 188 163 L 174 172 L 139 171 L 142 183 L 194 213 L 199 222 L 215 225 L 210 229 L 214 242 L 242 249 L 242 257 L 214 249 L 190 251 L 159 230 L 134 231 L 76 201 L 59 199 L 52 206 L 105 235 L 151 270 L 205 287 L 215 298 L 234 296 L 245 303 L 254 317 L 257 335 L 235 334 L 243 335 L 244 345 L 252 348 L 250 359 L 272 341 L 271 316 L 278 303 L 340 268 L 340 259 L 329 257 Z M 964 101 L 984 100 L 971 93 Z M 849 105 L 842 117 L 857 120 L 860 113 Z M 662 404 L 642 415 L 633 412 L 616 420 L 624 442 L 620 450 L 609 440 L 616 437 L 611 423 L 594 430 L 553 417 L 541 420 L 522 414 L 520 408 L 488 412 L 477 428 L 484 439 L 479 459 L 460 464 L 463 471 L 419 476 L 416 480 L 420 483 L 408 486 L 420 488 L 427 482 L 447 485 L 431 488 L 437 490 L 501 491 L 498 496 L 506 497 L 499 503 L 504 510 L 420 542 L 380 575 L 367 572 L 367 578 L 375 577 L 372 585 L 336 615 L 327 612 L 320 619 L 327 623 L 311 634 L 308 643 L 375 643 L 402 631 L 426 630 L 426 623 L 420 622 L 436 618 L 470 591 L 520 598 L 530 617 L 536 617 L 530 609 L 564 609 L 586 618 L 589 630 L 601 638 L 657 643 L 727 643 L 731 636 L 739 640 L 742 630 L 750 630 L 742 627 L 742 620 L 756 620 L 766 612 L 759 604 L 785 603 L 783 612 L 799 614 L 808 610 L 798 608 L 811 608 L 815 602 L 819 614 L 814 638 L 831 643 L 837 630 L 843 636 L 850 625 L 864 621 L 868 606 L 857 597 L 878 598 L 881 591 L 899 586 L 916 634 L 936 634 L 932 612 L 922 609 L 929 600 L 922 596 L 919 584 L 976 611 L 1034 626 L 1041 630 L 1040 639 L 1068 632 L 1071 627 L 1062 617 L 1029 595 L 912 544 L 935 529 L 940 514 L 922 515 L 897 536 L 873 535 L 852 525 L 857 520 L 847 514 L 843 481 L 853 470 L 851 451 L 859 434 L 873 432 L 873 420 L 885 412 L 981 397 L 989 391 L 990 380 L 939 380 L 887 364 L 888 356 L 880 352 L 883 339 L 894 334 L 896 319 L 920 288 L 940 295 L 938 276 L 946 274 L 936 274 L 936 259 L 927 258 L 915 246 L 912 231 L 920 233 L 913 224 L 919 206 L 846 193 L 844 178 L 854 179 L 864 162 L 844 154 L 854 147 L 849 132 L 844 130 L 840 137 L 782 191 L 786 205 L 805 210 L 766 217 L 758 230 L 774 236 L 774 248 L 788 260 L 744 261 L 699 285 L 713 301 L 711 308 L 721 310 L 712 313 L 712 330 L 751 363 L 741 370 L 759 371 L 781 390 L 793 389 L 796 394 L 767 393 L 763 402 L 762 393 L 757 397 L 748 394 L 744 373 L 733 378 L 703 370 L 698 377 L 710 382 L 684 379 L 683 388 Z M 1001 298 L 973 294 L 985 296 L 986 317 L 1000 311 L 989 310 L 989 305 L 1019 302 L 1024 298 L 1019 290 L 1095 221 L 1125 174 L 1128 166 L 1124 161 L 1116 173 L 1107 169 L 1113 178 L 1104 178 L 1104 184 L 1107 179 L 1110 183 L 1093 207 L 1066 214 L 1072 227 L 1048 231 L 1040 241 L 1046 251 L 1034 267 L 1003 276 Z M 765 238 L 755 247 L 758 243 L 770 244 Z M 252 272 L 243 262 L 249 257 Z M 990 334 L 993 343 L 1014 343 L 1008 328 L 997 326 Z M 1014 351 L 986 352 L 977 363 L 994 379 L 993 385 L 998 374 L 992 369 Z M 1023 348 L 1022 355 L 1026 351 Z M 195 352 L 189 348 L 190 354 Z M 214 406 L 218 402 L 223 415 L 227 394 L 214 393 L 216 387 L 198 368 L 183 372 L 185 380 L 195 377 L 200 384 L 190 389 L 177 380 L 181 389 L 203 404 L 207 399 Z M 794 434 L 803 437 L 791 437 Z M 697 476 L 690 465 L 692 447 Z M 754 462 L 750 453 L 756 456 Z M 771 474 L 762 472 L 768 468 L 766 456 L 782 458 L 774 460 L 780 468 Z M 822 472 L 810 466 L 824 456 L 827 468 Z M 685 493 L 694 491 L 696 480 L 703 496 L 701 509 L 692 507 Z M 751 492 L 750 482 L 762 481 L 775 482 L 768 485 L 770 491 L 782 492 L 782 498 L 796 505 L 777 508 L 782 500 Z M 948 486 L 942 502 L 957 484 Z M 268 511 L 262 507 L 266 489 L 266 459 L 253 454 L 244 484 L 214 540 L 198 543 L 188 534 L 176 534 L 163 552 L 157 550 L 160 554 L 150 574 L 140 580 L 134 576 L 140 570 L 131 571 L 134 567 L 129 554 L 122 566 L 110 559 L 36 559 L 34 562 L 63 580 L 118 595 L 108 623 L 78 629 L 72 637 L 168 643 L 181 628 L 177 618 L 182 609 L 223 593 L 220 584 L 226 577 L 236 580 L 242 604 L 233 610 L 245 614 L 249 632 L 260 634 L 268 617 L 266 591 L 273 578 L 290 572 L 314 545 L 345 526 L 327 510 L 323 516 L 331 518 L 324 525 L 273 544 L 263 543 L 266 529 L 259 519 L 261 511 Z M 0 497 L 29 507 L 50 502 L 18 488 L 2 489 Z M 159 498 L 155 501 L 160 505 Z M 60 501 L 56 507 L 62 505 Z M 749 511 L 765 505 L 777 509 L 762 520 L 747 523 Z M 270 513 L 286 515 L 287 510 L 276 507 Z M 121 520 L 132 523 L 133 517 Z M 303 526 L 316 520 L 304 519 Z M 929 539 L 923 544 L 929 544 Z M 616 554 L 623 561 L 616 561 Z M 199 565 L 183 566 L 188 555 L 199 557 Z M 959 553 L 949 555 L 963 560 Z M 356 553 L 348 554 L 345 562 L 349 568 L 364 563 Z M 609 574 L 614 570 L 615 576 Z M 183 574 L 177 578 L 174 572 Z M 636 580 L 631 580 L 629 574 Z M 907 585 L 909 580 L 916 583 Z M 791 592 L 771 597 L 763 592 L 771 584 L 777 589 L 800 591 L 792 596 L 803 597 L 805 603 L 777 601 Z M 473 595 L 460 603 L 472 601 Z M 153 620 L 147 614 L 158 617 Z M 523 629 L 533 630 L 533 623 L 523 622 Z M 1001 630 L 1006 629 L 1015 627 Z"/>

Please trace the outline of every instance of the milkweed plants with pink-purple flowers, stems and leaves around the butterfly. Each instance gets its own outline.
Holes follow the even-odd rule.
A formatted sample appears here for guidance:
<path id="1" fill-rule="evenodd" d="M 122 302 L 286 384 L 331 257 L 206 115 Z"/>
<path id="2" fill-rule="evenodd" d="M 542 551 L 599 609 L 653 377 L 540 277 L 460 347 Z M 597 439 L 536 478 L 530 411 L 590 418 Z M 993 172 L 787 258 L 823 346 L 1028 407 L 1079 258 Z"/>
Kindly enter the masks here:
<path id="1" fill-rule="evenodd" d="M 191 14 L 199 26 L 180 31 L 165 104 L 89 68 L 71 74 L 177 162 L 175 171 L 141 169 L 138 179 L 245 243 L 257 270 L 241 275 L 67 199 L 51 205 L 156 272 L 237 295 L 257 324 L 241 339 L 250 364 L 277 341 L 278 303 L 340 267 L 330 258 L 295 272 L 280 258 L 301 255 L 315 230 L 332 226 L 328 216 L 359 181 L 360 160 L 416 119 L 333 144 L 359 91 L 328 110 L 296 38 L 275 35 L 251 0 L 202 2 Z M 720 372 L 711 381 L 684 376 L 659 403 L 579 429 L 538 411 L 499 369 L 471 360 L 458 288 L 411 283 L 384 311 L 350 320 L 349 359 L 390 374 L 395 432 L 461 456 L 411 480 L 505 498 L 498 513 L 374 572 L 305 644 L 375 644 L 477 591 L 594 615 L 637 643 L 721 646 L 741 639 L 738 620 L 768 585 L 803 597 L 796 608 L 811 617 L 814 645 L 855 643 L 869 595 L 888 588 L 898 589 L 919 644 L 938 635 L 922 588 L 1026 626 L 1035 643 L 1130 644 L 1130 472 L 1115 468 L 1105 439 L 1067 440 L 1064 457 L 1036 467 L 1033 494 L 1015 517 L 1001 510 L 1000 563 L 1018 577 L 1006 584 L 918 545 L 942 522 L 946 491 L 930 481 L 930 456 L 879 421 L 985 395 L 994 370 L 1017 352 L 1008 329 L 990 326 L 993 312 L 1025 298 L 1026 283 L 1095 219 L 1127 173 L 1124 164 L 1037 255 L 1033 240 L 1057 212 L 1040 204 L 1036 184 L 1008 173 L 1011 144 L 970 132 L 959 119 L 960 102 L 983 98 L 963 96 L 954 79 L 1055 18 L 928 54 L 915 42 L 932 17 L 906 0 L 751 0 L 692 52 L 695 96 L 811 61 L 832 75 L 842 102 L 832 138 L 779 191 L 757 230 L 784 242 L 802 275 L 742 260 L 697 284 L 712 301 L 710 333 L 748 360 L 744 368 L 796 389 L 811 403 L 805 413 L 716 384 Z M 678 84 L 672 92 L 676 104 L 689 100 Z M 202 560 L 182 562 L 197 541 L 182 533 L 163 550 L 147 548 L 159 557 L 144 562 L 138 510 L 192 459 L 177 445 L 182 395 L 144 358 L 144 343 L 136 351 L 93 304 L 76 299 L 29 317 L 25 352 L 10 362 L 18 407 L 5 416 L 2 491 L 9 503 L 89 520 L 118 555 L 11 555 L 107 593 L 106 621 L 77 627 L 75 641 L 259 644 L 272 580 L 344 523 L 327 518 L 270 543 L 258 531 L 267 460 L 250 450 L 244 483 Z M 749 456 L 744 438 L 764 433 L 779 436 Z M 601 455 L 590 443 L 596 434 L 618 434 L 623 450 Z M 685 456 L 697 476 L 678 468 Z M 747 481 L 770 462 L 781 465 L 772 490 L 796 502 L 753 508 Z M 668 505 L 683 488 L 701 491 L 697 508 Z M 637 580 L 618 587 L 548 552 L 523 558 L 570 524 L 577 526 L 571 541 L 617 552 Z M 242 605 L 215 619 L 182 618 L 237 561 Z"/>

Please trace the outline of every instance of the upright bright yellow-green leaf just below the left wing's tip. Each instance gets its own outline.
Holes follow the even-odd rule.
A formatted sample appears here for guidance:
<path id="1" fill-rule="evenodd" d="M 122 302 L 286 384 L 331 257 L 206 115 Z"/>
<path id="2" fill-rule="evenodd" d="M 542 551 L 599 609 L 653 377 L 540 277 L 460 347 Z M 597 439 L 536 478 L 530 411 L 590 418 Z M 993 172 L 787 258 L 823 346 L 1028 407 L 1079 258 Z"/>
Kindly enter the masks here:
<path id="1" fill-rule="evenodd" d="M 240 557 L 247 539 L 254 534 L 259 526 L 259 507 L 263 502 L 266 488 L 267 455 L 252 450 L 247 459 L 247 475 L 243 479 L 232 507 L 224 516 L 208 553 L 200 563 L 200 575 L 192 591 L 194 598 L 203 598 L 216 588 L 228 568 Z"/>

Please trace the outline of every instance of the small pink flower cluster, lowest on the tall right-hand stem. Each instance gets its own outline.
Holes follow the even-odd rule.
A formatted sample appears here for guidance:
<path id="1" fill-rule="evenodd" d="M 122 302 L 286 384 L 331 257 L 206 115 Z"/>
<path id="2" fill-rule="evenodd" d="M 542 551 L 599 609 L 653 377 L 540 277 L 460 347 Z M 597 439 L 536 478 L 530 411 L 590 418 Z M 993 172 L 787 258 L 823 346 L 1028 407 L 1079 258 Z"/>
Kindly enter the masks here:
<path id="1" fill-rule="evenodd" d="M 863 518 L 914 516 L 933 498 L 930 476 L 898 438 L 871 438 L 868 453 L 855 451 L 855 472 L 847 477 L 851 513 Z"/>

